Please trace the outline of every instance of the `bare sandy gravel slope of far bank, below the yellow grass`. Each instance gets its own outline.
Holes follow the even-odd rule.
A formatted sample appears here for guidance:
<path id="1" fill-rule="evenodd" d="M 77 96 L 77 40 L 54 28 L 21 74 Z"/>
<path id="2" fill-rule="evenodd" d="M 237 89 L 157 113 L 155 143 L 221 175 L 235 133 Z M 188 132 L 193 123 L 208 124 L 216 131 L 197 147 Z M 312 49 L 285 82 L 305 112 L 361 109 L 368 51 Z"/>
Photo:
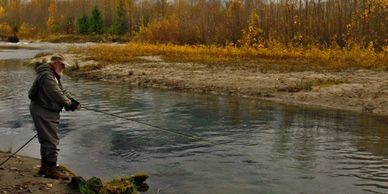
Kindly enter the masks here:
<path id="1" fill-rule="evenodd" d="M 388 73 L 384 71 L 261 73 L 193 63 L 80 64 L 80 70 L 73 72 L 76 76 L 140 87 L 388 115 Z"/>

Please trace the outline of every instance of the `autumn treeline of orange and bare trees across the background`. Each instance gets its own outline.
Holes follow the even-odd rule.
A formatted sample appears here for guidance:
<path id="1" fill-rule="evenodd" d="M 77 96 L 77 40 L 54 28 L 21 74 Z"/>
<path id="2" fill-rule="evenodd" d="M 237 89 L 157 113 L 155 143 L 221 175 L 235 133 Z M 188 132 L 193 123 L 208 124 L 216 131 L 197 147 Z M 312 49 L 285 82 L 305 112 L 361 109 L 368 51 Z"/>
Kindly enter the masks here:
<path id="1" fill-rule="evenodd" d="M 387 0 L 0 0 L 1 33 L 116 34 L 159 43 L 381 49 Z"/>

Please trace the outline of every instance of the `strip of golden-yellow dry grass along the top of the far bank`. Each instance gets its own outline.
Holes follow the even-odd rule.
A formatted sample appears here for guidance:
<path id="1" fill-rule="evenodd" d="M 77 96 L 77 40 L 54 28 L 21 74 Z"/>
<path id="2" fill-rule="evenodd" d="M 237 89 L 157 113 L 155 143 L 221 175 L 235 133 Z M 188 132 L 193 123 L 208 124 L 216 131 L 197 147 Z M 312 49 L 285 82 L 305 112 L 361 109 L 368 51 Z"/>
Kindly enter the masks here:
<path id="1" fill-rule="evenodd" d="M 232 65 L 259 68 L 262 71 L 309 71 L 347 69 L 388 70 L 388 52 L 355 46 L 348 49 L 297 48 L 273 45 L 270 48 L 238 48 L 203 45 L 128 43 L 98 44 L 84 50 L 90 59 L 122 63 L 137 56 L 160 55 L 166 61 L 201 62 L 210 65 Z"/>

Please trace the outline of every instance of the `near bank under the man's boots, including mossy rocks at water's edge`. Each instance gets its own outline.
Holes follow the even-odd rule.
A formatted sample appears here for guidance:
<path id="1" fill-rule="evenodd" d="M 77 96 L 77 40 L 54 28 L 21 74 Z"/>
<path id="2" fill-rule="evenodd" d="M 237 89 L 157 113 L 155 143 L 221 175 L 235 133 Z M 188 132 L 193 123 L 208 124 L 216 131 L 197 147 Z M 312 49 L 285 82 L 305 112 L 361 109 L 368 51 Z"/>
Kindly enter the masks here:
<path id="1" fill-rule="evenodd" d="M 0 151 L 0 161 L 6 160 L 9 153 Z M 140 193 L 148 190 L 144 181 L 148 175 L 136 173 L 102 183 L 101 179 L 92 177 L 84 180 L 76 177 L 67 168 L 64 171 L 73 174 L 71 181 L 44 178 L 38 175 L 40 160 L 26 156 L 15 156 L 0 168 L 0 193 Z"/>

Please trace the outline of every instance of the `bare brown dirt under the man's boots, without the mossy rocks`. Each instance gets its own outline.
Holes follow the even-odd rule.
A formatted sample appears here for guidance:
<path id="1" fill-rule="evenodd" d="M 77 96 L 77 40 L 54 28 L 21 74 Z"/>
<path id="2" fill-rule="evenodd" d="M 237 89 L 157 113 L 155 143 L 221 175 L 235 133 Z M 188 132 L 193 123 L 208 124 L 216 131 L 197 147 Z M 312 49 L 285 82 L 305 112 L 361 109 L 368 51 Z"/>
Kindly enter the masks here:
<path id="1" fill-rule="evenodd" d="M 8 153 L 0 152 L 1 161 L 8 156 Z M 39 167 L 39 159 L 26 156 L 12 158 L 0 168 L 0 193 L 79 193 L 68 186 L 69 181 L 38 176 Z"/>

